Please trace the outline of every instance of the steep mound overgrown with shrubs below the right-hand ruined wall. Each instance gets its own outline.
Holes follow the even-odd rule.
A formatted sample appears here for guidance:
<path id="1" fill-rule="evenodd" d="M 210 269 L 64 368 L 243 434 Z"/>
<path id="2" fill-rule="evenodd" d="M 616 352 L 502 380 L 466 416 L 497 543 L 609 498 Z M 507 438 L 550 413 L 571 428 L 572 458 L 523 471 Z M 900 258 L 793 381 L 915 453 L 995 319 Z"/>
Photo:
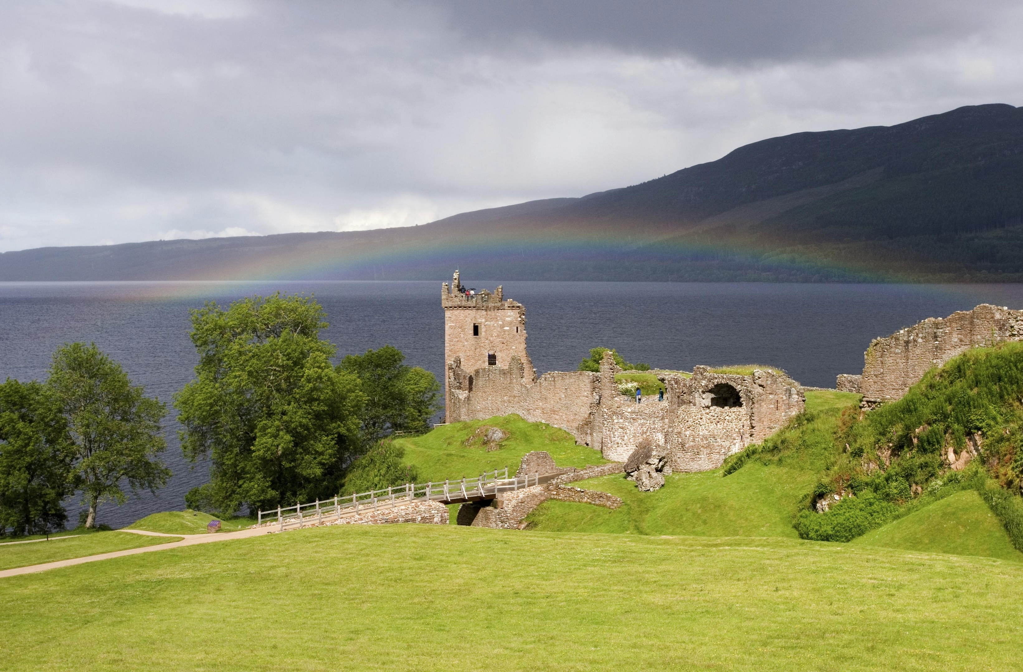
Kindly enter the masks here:
<path id="1" fill-rule="evenodd" d="M 835 442 L 844 449 L 796 523 L 804 538 L 848 541 L 948 488 L 979 487 L 1023 549 L 1023 343 L 968 350 L 928 372 L 901 399 L 849 417 Z M 1006 488 L 1000 494 L 988 492 L 988 476 Z M 855 497 L 827 513 L 812 511 L 814 500 L 849 492 Z"/>

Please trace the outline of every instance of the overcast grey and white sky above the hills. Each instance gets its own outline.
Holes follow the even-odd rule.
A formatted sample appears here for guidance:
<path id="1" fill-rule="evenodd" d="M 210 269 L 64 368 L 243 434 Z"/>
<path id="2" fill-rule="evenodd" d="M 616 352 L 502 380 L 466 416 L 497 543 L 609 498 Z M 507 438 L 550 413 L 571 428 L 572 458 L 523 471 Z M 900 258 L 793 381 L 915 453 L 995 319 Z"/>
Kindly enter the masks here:
<path id="1" fill-rule="evenodd" d="M 1021 35 L 1018 0 L 4 0 L 0 251 L 424 224 L 1023 105 Z"/>

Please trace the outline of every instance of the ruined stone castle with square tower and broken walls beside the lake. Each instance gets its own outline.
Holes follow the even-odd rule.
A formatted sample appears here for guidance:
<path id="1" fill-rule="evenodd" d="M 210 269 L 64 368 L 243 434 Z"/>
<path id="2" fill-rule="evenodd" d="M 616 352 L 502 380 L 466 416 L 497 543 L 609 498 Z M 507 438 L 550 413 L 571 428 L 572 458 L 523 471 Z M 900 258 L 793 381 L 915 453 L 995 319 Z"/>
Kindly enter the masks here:
<path id="1" fill-rule="evenodd" d="M 560 427 L 608 460 L 625 462 L 650 439 L 667 448 L 671 469 L 720 467 L 729 454 L 762 441 L 803 412 L 799 384 L 773 371 L 753 375 L 657 372 L 663 401 L 636 403 L 621 394 L 610 353 L 601 371 L 537 377 L 526 351 L 526 308 L 491 293 L 466 293 L 458 272 L 441 290 L 444 308 L 447 422 L 518 414 Z"/>

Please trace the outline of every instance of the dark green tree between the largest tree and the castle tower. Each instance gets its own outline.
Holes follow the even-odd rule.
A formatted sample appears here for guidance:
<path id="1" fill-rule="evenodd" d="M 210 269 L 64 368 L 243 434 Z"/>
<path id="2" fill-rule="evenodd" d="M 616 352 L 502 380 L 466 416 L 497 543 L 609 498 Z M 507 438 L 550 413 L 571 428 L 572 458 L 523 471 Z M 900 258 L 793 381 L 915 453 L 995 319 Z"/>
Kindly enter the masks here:
<path id="1" fill-rule="evenodd" d="M 426 431 L 441 409 L 441 386 L 434 375 L 404 361 L 401 350 L 385 345 L 341 362 L 342 371 L 358 376 L 366 396 L 361 420 L 367 442 L 392 432 Z"/>

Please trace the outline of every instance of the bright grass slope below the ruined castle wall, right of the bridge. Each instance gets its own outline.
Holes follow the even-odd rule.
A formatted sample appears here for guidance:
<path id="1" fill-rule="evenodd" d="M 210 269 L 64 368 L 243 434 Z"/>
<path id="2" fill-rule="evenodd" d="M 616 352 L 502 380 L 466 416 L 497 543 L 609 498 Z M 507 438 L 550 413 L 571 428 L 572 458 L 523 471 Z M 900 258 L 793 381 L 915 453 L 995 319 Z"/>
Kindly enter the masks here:
<path id="1" fill-rule="evenodd" d="M 530 529 L 549 532 L 619 532 L 700 536 L 797 537 L 792 521 L 834 452 L 833 431 L 845 406 L 859 396 L 847 392 L 806 393 L 816 421 L 777 438 L 800 441 L 794 454 L 768 462 L 751 460 L 722 478 L 721 470 L 667 477 L 656 492 L 639 492 L 620 475 L 574 483 L 624 500 L 615 511 L 583 503 L 546 501 L 527 519 Z"/>

